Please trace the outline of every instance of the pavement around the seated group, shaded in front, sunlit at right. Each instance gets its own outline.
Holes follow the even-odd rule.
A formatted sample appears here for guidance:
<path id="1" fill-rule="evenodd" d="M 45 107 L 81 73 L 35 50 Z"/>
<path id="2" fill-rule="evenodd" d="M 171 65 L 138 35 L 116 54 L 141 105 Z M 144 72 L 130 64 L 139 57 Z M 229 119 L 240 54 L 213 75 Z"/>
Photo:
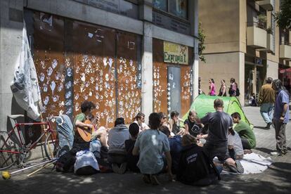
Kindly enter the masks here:
<path id="1" fill-rule="evenodd" d="M 273 164 L 261 174 L 222 175 L 219 183 L 203 188 L 186 186 L 179 182 L 169 183 L 166 175 L 160 175 L 161 186 L 143 183 L 141 174 L 95 174 L 75 176 L 61 174 L 50 169 L 27 177 L 30 172 L 15 174 L 10 180 L 0 181 L 0 193 L 290 193 L 291 190 L 291 123 L 287 124 L 287 146 L 290 153 L 273 157 L 276 150 L 275 130 L 264 129 L 259 108 L 243 108 L 247 118 L 254 124 L 257 148 L 253 151 L 271 157 Z"/>

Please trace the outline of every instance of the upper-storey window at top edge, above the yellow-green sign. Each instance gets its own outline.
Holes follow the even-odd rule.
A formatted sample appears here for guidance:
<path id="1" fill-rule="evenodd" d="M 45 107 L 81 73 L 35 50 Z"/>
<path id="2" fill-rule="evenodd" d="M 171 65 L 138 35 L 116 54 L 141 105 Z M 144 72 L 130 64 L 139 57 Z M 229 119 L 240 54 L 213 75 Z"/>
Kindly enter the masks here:
<path id="1" fill-rule="evenodd" d="M 153 7 L 188 19 L 188 0 L 153 0 Z"/>

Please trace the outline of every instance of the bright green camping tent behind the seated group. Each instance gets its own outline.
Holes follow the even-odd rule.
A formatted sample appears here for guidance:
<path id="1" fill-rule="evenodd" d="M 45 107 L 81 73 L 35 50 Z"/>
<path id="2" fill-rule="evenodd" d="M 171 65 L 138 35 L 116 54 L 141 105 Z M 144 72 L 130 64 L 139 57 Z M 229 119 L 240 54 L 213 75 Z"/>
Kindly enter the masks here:
<path id="1" fill-rule="evenodd" d="M 238 112 L 240 113 L 240 117 L 242 118 L 242 120 L 247 124 L 250 124 L 247 117 L 245 117 L 245 113 L 243 112 L 243 109 L 240 105 L 240 101 L 238 101 L 238 98 L 236 97 L 206 96 L 205 94 L 201 94 L 197 98 L 195 98 L 190 110 L 195 110 L 195 112 L 197 112 L 198 114 L 198 117 L 202 118 L 208 112 L 215 112 L 214 100 L 216 98 L 221 98 L 224 101 L 224 112 L 227 112 L 229 115 L 233 114 L 234 112 Z M 186 115 L 183 115 L 183 120 L 187 119 L 188 112 L 186 113 Z M 183 126 L 182 123 L 181 126 Z"/>

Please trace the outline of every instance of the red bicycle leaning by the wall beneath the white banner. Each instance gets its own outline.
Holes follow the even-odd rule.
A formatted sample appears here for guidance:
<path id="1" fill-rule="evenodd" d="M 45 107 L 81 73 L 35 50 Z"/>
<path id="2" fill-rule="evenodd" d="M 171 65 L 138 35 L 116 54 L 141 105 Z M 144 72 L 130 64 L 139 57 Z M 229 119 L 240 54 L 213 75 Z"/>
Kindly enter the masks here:
<path id="1" fill-rule="evenodd" d="M 3 135 L 0 136 L 0 170 L 8 169 L 14 164 L 17 164 L 20 168 L 25 167 L 26 160 L 31 154 L 30 151 L 32 148 L 35 148 L 38 143 L 44 145 L 44 153 L 48 160 L 53 160 L 59 156 L 61 148 L 59 146 L 57 135 L 60 131 L 53 130 L 52 123 L 56 122 L 58 125 L 63 124 L 64 121 L 62 117 L 47 117 L 46 122 L 21 123 L 18 123 L 16 119 L 18 117 L 24 117 L 24 115 L 10 115 L 8 117 L 13 119 L 15 124 L 11 131 L 0 131 L 1 134 L 7 134 L 6 138 L 4 138 Z M 36 141 L 30 141 L 30 143 L 25 144 L 22 128 L 35 125 L 41 127 L 41 135 Z M 3 144 L 1 143 L 2 139 L 4 139 Z M 44 143 L 41 141 L 43 139 L 45 139 Z M 70 150 L 70 141 L 64 134 L 62 141 L 66 141 L 65 144 L 68 145 L 67 149 Z"/>

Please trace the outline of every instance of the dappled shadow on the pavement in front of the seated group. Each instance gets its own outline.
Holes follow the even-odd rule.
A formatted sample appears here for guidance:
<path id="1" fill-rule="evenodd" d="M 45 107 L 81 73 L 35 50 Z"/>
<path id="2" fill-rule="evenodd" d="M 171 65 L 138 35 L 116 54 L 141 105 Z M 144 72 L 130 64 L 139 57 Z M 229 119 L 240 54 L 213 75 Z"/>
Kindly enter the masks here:
<path id="1" fill-rule="evenodd" d="M 15 182 L 11 180 L 0 181 L 0 186 L 5 183 L 4 193 L 287 193 L 291 186 L 288 183 L 287 174 L 290 173 L 291 164 L 274 164 L 273 169 L 269 169 L 273 174 L 278 174 L 280 183 L 274 183 L 269 179 L 254 178 L 251 174 L 247 175 L 223 175 L 222 180 L 212 186 L 194 187 L 182 183 L 168 182 L 167 176 L 162 174 L 159 180 L 160 186 L 152 186 L 143 183 L 141 174 L 94 174 L 92 176 L 76 176 L 72 173 L 59 174 L 49 171 L 41 172 L 29 179 L 22 179 Z M 282 172 L 281 169 L 288 169 Z M 284 174 L 282 176 L 282 174 Z M 285 176 L 286 175 L 286 176 Z M 25 176 L 25 175 L 21 175 Z M 286 184 L 284 184 L 286 183 Z"/>

